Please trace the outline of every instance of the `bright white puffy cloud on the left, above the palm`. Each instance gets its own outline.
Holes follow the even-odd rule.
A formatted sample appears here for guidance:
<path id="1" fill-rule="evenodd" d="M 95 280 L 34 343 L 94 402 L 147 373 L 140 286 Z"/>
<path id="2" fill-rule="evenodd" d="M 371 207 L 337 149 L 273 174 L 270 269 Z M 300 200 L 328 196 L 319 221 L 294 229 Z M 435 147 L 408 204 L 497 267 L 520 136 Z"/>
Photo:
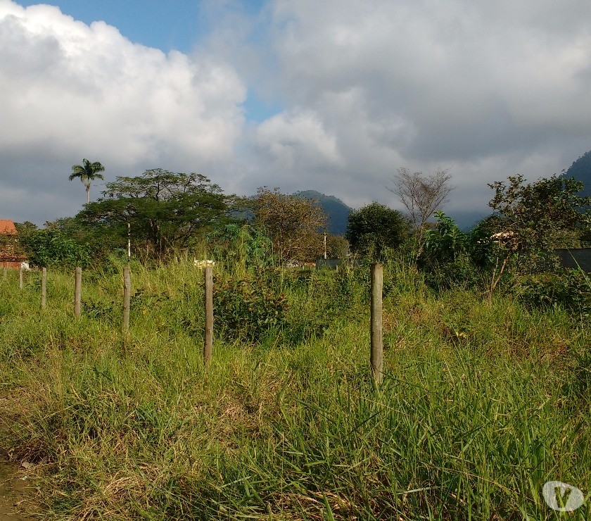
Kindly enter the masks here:
<path id="1" fill-rule="evenodd" d="M 51 212 L 39 201 L 27 218 L 75 213 L 80 187 L 69 186 L 67 175 L 83 157 L 101 161 L 113 179 L 158 166 L 198 170 L 231 156 L 246 96 L 234 68 L 203 52 L 164 54 L 106 23 L 88 26 L 56 7 L 6 0 L 0 89 L 0 153 L 11 159 L 0 165 L 0 208 L 15 220 L 24 212 L 8 189 L 29 183 L 34 191 L 40 178 L 63 193 L 63 204 Z M 32 169 L 19 168 L 35 156 Z"/>

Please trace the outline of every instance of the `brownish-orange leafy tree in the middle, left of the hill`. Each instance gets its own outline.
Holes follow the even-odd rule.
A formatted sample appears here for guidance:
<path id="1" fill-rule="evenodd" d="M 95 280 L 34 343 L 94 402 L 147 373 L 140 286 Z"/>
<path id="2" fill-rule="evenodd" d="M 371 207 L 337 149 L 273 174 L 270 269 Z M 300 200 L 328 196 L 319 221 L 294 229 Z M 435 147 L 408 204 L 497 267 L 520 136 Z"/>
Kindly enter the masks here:
<path id="1" fill-rule="evenodd" d="M 313 261 L 324 252 L 321 230 L 326 227 L 326 215 L 314 201 L 262 187 L 250 207 L 255 225 L 272 240 L 280 261 Z"/>

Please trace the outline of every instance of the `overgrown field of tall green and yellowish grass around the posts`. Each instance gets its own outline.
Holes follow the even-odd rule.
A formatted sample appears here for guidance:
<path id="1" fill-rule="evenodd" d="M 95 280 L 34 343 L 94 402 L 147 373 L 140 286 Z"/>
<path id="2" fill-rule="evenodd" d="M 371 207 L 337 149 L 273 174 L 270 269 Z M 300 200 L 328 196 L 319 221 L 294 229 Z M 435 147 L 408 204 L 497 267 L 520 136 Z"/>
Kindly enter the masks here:
<path id="1" fill-rule="evenodd" d="M 588 497 L 571 514 L 542 498 L 549 480 L 591 491 L 580 317 L 386 265 L 374 389 L 367 270 L 215 270 L 207 370 L 191 265 L 132 265 L 128 337 L 119 265 L 84 273 L 80 320 L 73 272 L 49 271 L 45 310 L 39 272 L 0 280 L 1 448 L 34 463 L 49 518 L 591 519 Z"/>

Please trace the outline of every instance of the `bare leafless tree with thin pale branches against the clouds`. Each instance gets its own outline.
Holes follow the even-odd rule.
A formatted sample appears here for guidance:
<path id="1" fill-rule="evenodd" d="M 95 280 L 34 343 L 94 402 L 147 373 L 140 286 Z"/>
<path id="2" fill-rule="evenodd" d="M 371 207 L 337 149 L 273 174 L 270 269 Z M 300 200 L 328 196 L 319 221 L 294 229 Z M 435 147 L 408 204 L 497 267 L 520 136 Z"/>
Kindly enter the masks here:
<path id="1" fill-rule="evenodd" d="M 451 178 L 447 170 L 438 169 L 434 174 L 424 175 L 407 168 L 399 168 L 394 177 L 394 187 L 389 190 L 400 198 L 414 225 L 417 239 L 415 261 L 423 249 L 427 220 L 441 209 L 454 189 L 450 185 Z"/>

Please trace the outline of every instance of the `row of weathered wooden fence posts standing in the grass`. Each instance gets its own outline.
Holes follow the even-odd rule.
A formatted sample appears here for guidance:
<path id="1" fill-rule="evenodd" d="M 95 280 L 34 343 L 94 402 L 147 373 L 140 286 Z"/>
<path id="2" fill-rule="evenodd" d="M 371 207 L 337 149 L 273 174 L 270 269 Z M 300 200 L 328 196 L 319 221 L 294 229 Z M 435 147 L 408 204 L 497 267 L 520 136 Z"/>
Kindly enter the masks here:
<path id="1" fill-rule="evenodd" d="M 6 280 L 6 268 L 3 274 Z M 47 268 L 43 268 L 41 277 L 41 307 L 46 308 L 47 300 Z M 23 269 L 19 270 L 18 285 L 23 289 Z M 382 290 L 383 267 L 379 263 L 371 265 L 371 352 L 369 362 L 374 382 L 379 385 L 383 379 L 383 329 L 382 329 Z M 132 275 L 129 266 L 123 268 L 123 334 L 129 333 L 129 310 L 132 298 Z M 75 270 L 74 280 L 74 316 L 80 318 L 82 307 L 82 268 Z M 203 342 L 203 361 L 209 365 L 213 351 L 213 271 L 211 266 L 205 268 L 205 340 Z"/>

